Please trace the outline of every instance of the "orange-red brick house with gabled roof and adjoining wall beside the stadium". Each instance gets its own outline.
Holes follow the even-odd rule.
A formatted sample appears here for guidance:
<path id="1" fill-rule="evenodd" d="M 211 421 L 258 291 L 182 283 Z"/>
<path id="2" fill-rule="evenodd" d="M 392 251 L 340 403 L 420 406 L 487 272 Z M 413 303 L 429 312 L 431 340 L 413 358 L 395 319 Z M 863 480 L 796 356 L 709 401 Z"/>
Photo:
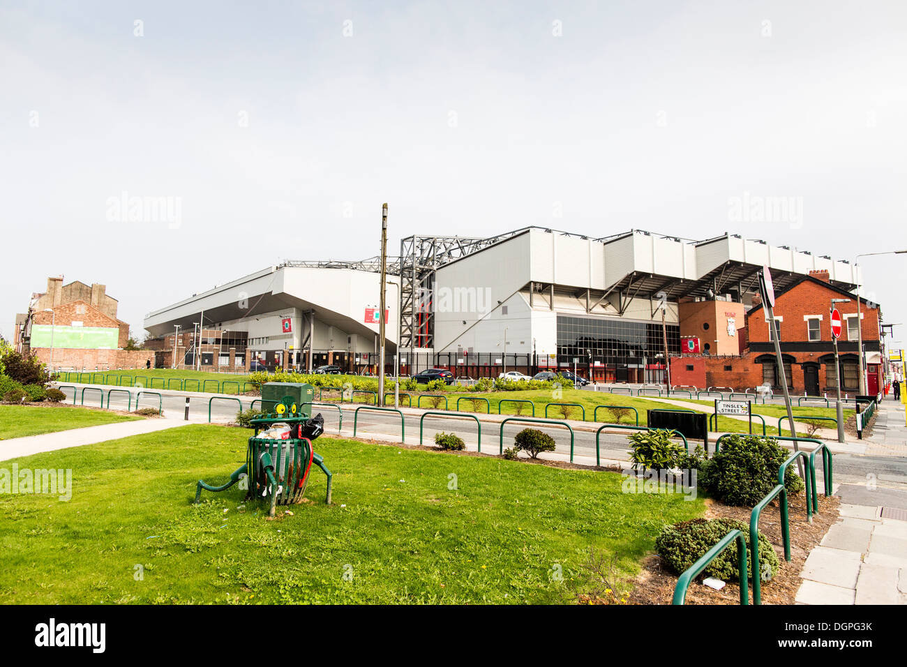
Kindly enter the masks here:
<path id="1" fill-rule="evenodd" d="M 836 304 L 844 320 L 841 338 L 838 339 L 841 387 L 844 393 L 852 396 L 859 391 L 856 296 L 830 284 L 826 271 L 813 271 L 810 276 L 797 280 L 775 295 L 775 319 L 787 387 L 792 393 L 822 396 L 835 390 L 834 340 L 829 320 L 832 299 L 851 299 L 850 303 Z M 715 303 L 717 310 L 720 310 L 722 303 Z M 876 394 L 883 387 L 881 319 L 878 304 L 860 299 L 869 394 Z M 681 323 L 683 321 L 681 315 Z M 758 297 L 746 311 L 745 329 L 735 329 L 742 341 L 741 354 L 671 358 L 672 384 L 701 388 L 731 387 L 737 391 L 768 384 L 775 391 L 780 391 L 775 344 L 769 335 L 766 309 Z"/>

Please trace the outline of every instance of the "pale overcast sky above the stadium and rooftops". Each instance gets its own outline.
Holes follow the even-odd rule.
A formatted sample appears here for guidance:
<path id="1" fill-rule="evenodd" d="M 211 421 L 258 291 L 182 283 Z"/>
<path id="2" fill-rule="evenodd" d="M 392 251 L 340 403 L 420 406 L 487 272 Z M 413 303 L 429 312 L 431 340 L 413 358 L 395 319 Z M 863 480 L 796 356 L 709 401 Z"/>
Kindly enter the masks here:
<path id="1" fill-rule="evenodd" d="M 545 225 L 853 260 L 907 248 L 905 155 L 903 0 L 0 0 L 0 333 L 52 274 L 141 331 L 279 260 L 375 255 L 384 201 L 394 254 Z M 861 263 L 907 342 L 907 255 Z"/>

